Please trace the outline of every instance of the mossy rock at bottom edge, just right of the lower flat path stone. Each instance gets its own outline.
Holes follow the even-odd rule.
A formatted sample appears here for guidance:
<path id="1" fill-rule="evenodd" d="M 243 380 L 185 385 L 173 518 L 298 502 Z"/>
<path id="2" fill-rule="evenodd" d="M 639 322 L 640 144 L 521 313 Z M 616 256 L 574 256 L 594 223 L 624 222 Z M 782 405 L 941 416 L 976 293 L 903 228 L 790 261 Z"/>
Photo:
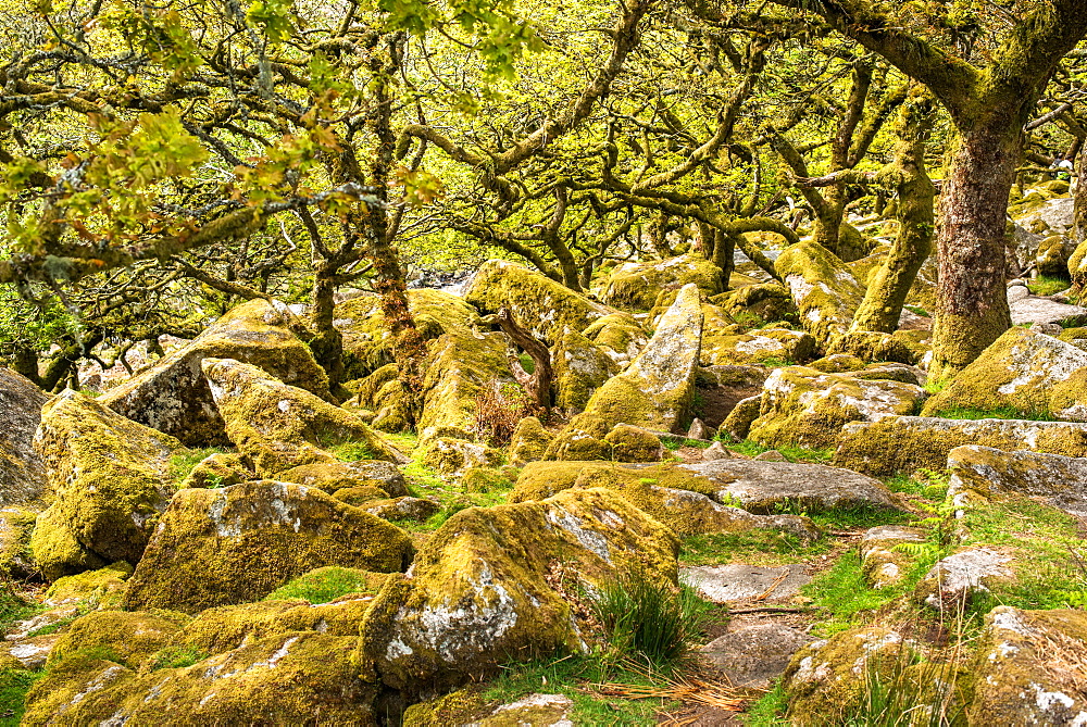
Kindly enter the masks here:
<path id="1" fill-rule="evenodd" d="M 852 628 L 801 647 L 782 675 L 790 724 L 846 724 L 860 706 L 869 675 L 889 682 L 896 665 L 909 664 L 915 653 L 900 634 L 879 627 Z"/>

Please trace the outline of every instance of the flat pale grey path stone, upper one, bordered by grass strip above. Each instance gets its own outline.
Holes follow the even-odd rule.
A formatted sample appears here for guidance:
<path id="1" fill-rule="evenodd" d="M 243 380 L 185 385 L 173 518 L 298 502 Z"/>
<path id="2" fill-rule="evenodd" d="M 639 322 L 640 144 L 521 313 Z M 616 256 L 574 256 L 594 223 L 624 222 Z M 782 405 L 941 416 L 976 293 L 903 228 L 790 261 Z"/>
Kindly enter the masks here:
<path id="1" fill-rule="evenodd" d="M 804 565 L 779 567 L 729 564 L 698 565 L 679 569 L 679 580 L 714 603 L 732 601 L 782 601 L 800 592 L 801 586 L 811 582 Z M 760 598 L 764 597 L 764 598 Z"/>

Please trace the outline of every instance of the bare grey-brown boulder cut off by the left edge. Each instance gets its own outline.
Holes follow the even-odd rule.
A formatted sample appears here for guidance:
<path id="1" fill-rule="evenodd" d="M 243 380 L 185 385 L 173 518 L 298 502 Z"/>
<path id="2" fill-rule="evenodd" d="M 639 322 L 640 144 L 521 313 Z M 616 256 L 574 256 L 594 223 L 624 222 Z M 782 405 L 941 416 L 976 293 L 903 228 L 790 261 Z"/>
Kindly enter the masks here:
<path id="1" fill-rule="evenodd" d="M 47 488 L 30 442 L 48 401 L 29 379 L 0 366 L 0 506 L 34 502 Z"/>

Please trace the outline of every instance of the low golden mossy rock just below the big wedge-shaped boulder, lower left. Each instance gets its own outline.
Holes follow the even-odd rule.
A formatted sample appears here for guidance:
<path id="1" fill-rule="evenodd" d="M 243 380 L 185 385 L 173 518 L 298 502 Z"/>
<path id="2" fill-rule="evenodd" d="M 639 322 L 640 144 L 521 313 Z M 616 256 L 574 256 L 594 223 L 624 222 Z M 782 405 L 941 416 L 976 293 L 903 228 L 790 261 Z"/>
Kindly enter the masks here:
<path id="1" fill-rule="evenodd" d="M 190 618 L 174 611 L 95 611 L 72 622 L 49 661 L 55 664 L 80 651 L 109 650 L 111 661 L 136 668 L 173 643 Z"/>

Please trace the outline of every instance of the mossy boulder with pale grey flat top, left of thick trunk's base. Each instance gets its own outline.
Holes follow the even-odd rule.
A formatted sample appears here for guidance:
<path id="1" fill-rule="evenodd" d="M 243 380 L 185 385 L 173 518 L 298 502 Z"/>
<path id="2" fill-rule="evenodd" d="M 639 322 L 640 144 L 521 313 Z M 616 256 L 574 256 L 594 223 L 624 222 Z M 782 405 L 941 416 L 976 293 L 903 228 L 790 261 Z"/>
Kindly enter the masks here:
<path id="1" fill-rule="evenodd" d="M 914 384 L 787 366 L 763 385 L 747 436 L 767 447 L 830 448 L 844 424 L 913 414 L 926 396 Z"/>

